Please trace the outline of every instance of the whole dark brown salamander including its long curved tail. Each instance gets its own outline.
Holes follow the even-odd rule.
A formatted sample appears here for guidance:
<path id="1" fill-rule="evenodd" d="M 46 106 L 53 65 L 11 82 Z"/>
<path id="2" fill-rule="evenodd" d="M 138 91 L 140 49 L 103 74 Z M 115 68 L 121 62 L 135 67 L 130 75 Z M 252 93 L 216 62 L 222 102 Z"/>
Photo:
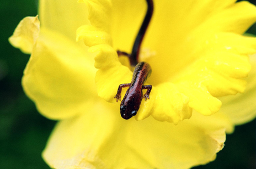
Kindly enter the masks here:
<path id="1" fill-rule="evenodd" d="M 150 23 L 152 14 L 153 14 L 153 1 L 146 0 L 147 2 L 147 13 L 142 22 L 141 28 L 138 31 L 137 37 L 134 42 L 134 46 L 132 47 L 131 54 L 126 52 L 117 51 L 118 55 L 125 55 L 129 57 L 130 64 L 135 66 L 134 75 L 132 75 L 131 83 L 120 84 L 118 87 L 118 93 L 115 95 L 116 102 L 118 100 L 121 101 L 121 91 L 123 87 L 129 87 L 127 89 L 124 98 L 120 104 L 120 113 L 122 118 L 130 119 L 132 116 L 137 114 L 138 109 L 141 105 L 142 98 L 145 100 L 150 99 L 150 92 L 152 89 L 151 85 L 144 86 L 143 84 L 146 82 L 147 78 L 151 75 L 151 67 L 150 64 L 146 62 L 138 63 L 138 54 L 140 53 L 140 46 L 147 30 L 148 24 Z M 147 92 L 143 95 L 142 89 L 147 89 Z"/>

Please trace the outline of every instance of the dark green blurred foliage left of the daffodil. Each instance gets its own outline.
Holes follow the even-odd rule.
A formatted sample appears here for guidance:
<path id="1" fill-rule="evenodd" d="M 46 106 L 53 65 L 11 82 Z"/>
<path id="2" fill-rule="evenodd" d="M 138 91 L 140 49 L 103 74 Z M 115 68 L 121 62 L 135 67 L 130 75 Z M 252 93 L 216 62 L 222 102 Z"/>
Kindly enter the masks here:
<path id="1" fill-rule="evenodd" d="M 29 55 L 8 43 L 19 21 L 35 16 L 38 1 L 0 0 L 0 168 L 49 168 L 41 152 L 55 125 L 26 97 L 20 81 Z"/>

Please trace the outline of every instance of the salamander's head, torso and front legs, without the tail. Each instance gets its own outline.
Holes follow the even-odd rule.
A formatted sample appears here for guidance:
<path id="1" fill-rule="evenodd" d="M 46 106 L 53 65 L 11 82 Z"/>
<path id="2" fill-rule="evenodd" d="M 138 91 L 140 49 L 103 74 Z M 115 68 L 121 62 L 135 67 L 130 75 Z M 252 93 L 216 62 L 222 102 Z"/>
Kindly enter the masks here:
<path id="1" fill-rule="evenodd" d="M 124 98 L 120 105 L 120 113 L 122 118 L 130 119 L 137 114 L 141 105 L 142 98 L 145 100 L 150 98 L 151 85 L 144 86 L 147 78 L 151 75 L 151 67 L 146 62 L 138 63 L 135 66 L 134 74 L 132 75 L 131 83 L 120 84 L 118 87 L 118 93 L 115 95 L 116 102 L 121 101 L 121 92 L 123 87 L 129 87 L 127 89 Z M 143 95 L 142 89 L 147 89 L 147 92 Z M 143 97 L 142 97 L 143 95 Z"/>

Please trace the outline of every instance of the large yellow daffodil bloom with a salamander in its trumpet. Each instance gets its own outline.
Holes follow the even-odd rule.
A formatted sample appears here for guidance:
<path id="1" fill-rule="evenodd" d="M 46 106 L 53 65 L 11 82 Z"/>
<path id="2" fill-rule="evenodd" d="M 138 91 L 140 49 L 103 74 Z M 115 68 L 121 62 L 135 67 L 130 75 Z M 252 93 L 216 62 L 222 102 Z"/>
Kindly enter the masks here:
<path id="1" fill-rule="evenodd" d="M 116 51 L 131 51 L 146 2 L 78 2 L 85 3 L 40 1 L 40 22 L 24 18 L 9 38 L 31 53 L 25 93 L 42 115 L 59 120 L 42 153 L 51 168 L 207 164 L 226 133 L 256 116 L 256 40 L 242 36 L 256 20 L 254 5 L 154 1 L 140 53 L 153 88 L 124 120 L 114 96 L 132 68 Z"/>

